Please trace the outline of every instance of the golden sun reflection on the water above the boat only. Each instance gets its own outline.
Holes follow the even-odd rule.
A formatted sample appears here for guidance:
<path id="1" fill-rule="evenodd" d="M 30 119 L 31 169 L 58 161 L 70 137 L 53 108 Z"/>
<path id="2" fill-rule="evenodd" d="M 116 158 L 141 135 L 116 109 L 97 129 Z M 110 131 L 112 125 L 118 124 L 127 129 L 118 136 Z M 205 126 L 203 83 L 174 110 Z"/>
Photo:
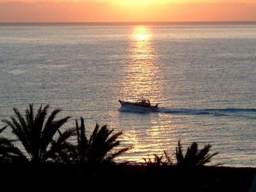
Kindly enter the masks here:
<path id="1" fill-rule="evenodd" d="M 159 72 L 157 56 L 152 44 L 153 35 L 147 26 L 134 27 L 129 49 L 127 76 L 122 86 L 122 95 L 126 99 L 148 97 L 157 101 L 159 86 L 156 79 Z"/>

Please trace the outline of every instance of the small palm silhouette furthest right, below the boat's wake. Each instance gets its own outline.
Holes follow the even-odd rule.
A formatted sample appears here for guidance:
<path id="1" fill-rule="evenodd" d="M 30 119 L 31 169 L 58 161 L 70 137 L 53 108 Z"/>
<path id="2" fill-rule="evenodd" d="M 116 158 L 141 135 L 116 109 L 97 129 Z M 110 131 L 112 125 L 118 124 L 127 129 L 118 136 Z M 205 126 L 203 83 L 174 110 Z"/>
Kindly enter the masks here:
<path id="1" fill-rule="evenodd" d="M 206 163 L 210 163 L 211 158 L 218 154 L 218 152 L 209 154 L 211 147 L 212 147 L 211 145 L 205 145 L 204 148 L 202 148 L 201 150 L 198 150 L 198 144 L 196 142 L 193 142 L 191 146 L 188 147 L 188 150 L 184 156 L 182 151 L 182 146 L 179 141 L 178 147 L 176 147 L 176 153 L 175 153 L 176 159 L 177 159 L 177 165 L 186 166 L 186 167 L 195 167 L 195 166 L 203 166 Z"/>

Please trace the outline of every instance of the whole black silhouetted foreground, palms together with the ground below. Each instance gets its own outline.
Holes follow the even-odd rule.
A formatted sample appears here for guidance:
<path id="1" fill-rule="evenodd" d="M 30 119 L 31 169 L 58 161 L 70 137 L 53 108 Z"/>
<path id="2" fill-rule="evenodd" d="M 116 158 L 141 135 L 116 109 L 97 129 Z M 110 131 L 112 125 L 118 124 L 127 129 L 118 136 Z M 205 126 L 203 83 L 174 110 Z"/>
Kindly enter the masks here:
<path id="1" fill-rule="evenodd" d="M 184 150 L 179 141 L 173 154 L 164 151 L 163 155 L 143 158 L 143 164 L 115 163 L 116 157 L 132 148 L 120 148 L 122 132 L 97 124 L 88 136 L 83 118 L 63 130 L 70 117 L 56 120 L 60 109 L 47 116 L 48 109 L 48 105 L 41 106 L 35 113 L 31 104 L 24 115 L 13 109 L 15 116 L 3 120 L 6 126 L 0 134 L 9 129 L 17 140 L 0 135 L 2 188 L 247 192 L 256 174 L 256 168 L 205 166 L 218 152 L 211 154 L 211 145 L 199 148 L 196 142 Z"/>

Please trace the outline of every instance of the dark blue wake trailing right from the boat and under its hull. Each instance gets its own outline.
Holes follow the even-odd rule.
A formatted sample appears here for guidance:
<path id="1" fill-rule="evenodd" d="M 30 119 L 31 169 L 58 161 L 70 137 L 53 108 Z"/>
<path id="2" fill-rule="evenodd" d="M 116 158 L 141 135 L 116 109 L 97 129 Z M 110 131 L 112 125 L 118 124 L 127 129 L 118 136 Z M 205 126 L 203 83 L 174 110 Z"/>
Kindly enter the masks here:
<path id="1" fill-rule="evenodd" d="M 241 116 L 256 119 L 256 109 L 225 108 L 225 109 L 174 109 L 159 108 L 157 111 L 148 111 L 134 106 L 125 106 L 120 111 L 131 113 L 170 113 L 173 115 L 215 115 L 215 116 Z"/>

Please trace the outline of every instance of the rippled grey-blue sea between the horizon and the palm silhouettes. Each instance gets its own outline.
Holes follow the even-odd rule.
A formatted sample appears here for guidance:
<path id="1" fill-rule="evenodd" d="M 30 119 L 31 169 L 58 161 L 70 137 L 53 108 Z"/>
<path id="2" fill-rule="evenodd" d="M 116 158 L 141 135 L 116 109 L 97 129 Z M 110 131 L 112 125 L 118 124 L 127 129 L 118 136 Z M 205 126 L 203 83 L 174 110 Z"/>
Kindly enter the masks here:
<path id="1" fill-rule="evenodd" d="M 118 103 L 141 97 L 159 111 Z M 213 164 L 255 167 L 256 24 L 0 24 L 0 119 L 29 103 L 63 109 L 63 129 L 83 116 L 88 134 L 97 122 L 122 131 L 133 148 L 117 161 L 181 140 L 210 143 Z"/>

